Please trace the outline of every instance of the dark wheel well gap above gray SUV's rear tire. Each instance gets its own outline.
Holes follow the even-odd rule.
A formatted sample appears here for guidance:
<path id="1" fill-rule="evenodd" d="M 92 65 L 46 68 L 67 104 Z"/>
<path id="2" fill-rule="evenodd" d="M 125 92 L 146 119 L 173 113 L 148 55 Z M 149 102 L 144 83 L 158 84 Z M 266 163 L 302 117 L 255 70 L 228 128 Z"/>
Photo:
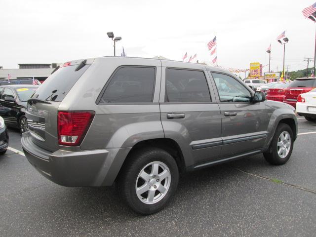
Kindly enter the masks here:
<path id="1" fill-rule="evenodd" d="M 127 154 L 121 168 L 124 167 L 125 163 L 128 161 L 129 156 L 133 152 L 135 152 L 138 149 L 143 149 L 144 147 L 156 147 L 165 150 L 175 159 L 178 165 L 179 172 L 185 171 L 186 165 L 182 151 L 178 143 L 170 138 L 155 138 L 136 143 Z"/>

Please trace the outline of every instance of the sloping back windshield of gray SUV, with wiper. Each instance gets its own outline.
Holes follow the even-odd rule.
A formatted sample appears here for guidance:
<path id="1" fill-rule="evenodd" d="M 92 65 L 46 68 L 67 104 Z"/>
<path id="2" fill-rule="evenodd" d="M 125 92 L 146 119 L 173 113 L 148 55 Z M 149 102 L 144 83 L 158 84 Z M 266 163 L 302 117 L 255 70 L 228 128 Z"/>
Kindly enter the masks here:
<path id="1" fill-rule="evenodd" d="M 78 65 L 62 67 L 50 75 L 32 98 L 61 102 L 90 64 L 75 71 Z"/>

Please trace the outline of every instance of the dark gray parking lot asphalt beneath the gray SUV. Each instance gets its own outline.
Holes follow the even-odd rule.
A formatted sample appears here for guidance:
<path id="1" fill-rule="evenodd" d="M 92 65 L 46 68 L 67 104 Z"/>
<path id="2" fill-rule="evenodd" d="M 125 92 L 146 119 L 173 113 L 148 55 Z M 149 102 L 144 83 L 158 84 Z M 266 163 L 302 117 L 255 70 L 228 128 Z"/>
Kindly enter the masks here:
<path id="1" fill-rule="evenodd" d="M 162 211 L 140 216 L 115 187 L 66 188 L 13 149 L 0 157 L 0 236 L 316 236 L 316 123 L 298 118 L 289 161 L 242 158 L 180 177 Z M 308 134 L 304 134 L 308 133 Z"/>

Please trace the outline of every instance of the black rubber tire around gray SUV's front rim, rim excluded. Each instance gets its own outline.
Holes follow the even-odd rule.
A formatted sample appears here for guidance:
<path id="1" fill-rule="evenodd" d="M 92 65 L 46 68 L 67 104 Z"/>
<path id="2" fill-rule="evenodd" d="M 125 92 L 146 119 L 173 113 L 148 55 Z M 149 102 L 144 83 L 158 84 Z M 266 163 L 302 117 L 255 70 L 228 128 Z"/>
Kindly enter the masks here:
<path id="1" fill-rule="evenodd" d="M 277 152 L 277 147 L 278 147 L 277 143 L 278 143 L 278 140 L 279 140 L 281 133 L 283 133 L 283 132 L 287 132 L 290 135 L 290 147 L 288 149 L 289 150 L 288 153 L 286 152 L 287 155 L 285 156 L 285 154 L 286 154 L 285 153 L 285 154 L 283 154 L 285 157 L 281 158 Z M 275 165 L 285 164 L 292 154 L 293 144 L 294 144 L 293 139 L 294 139 L 293 131 L 290 128 L 290 126 L 287 125 L 286 123 L 279 123 L 277 128 L 276 128 L 275 135 L 272 139 L 272 142 L 270 144 L 268 151 L 263 154 L 265 159 L 270 164 L 275 164 Z"/>

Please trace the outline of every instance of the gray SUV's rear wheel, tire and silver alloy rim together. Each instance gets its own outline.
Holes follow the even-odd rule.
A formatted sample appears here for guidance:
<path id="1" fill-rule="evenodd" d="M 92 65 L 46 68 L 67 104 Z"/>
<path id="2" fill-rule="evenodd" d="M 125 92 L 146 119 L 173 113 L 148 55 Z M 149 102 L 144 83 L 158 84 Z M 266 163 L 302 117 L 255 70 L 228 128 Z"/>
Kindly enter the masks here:
<path id="1" fill-rule="evenodd" d="M 135 212 L 148 215 L 161 210 L 178 185 L 176 161 L 158 148 L 133 152 L 127 159 L 118 177 L 118 192 Z"/>

